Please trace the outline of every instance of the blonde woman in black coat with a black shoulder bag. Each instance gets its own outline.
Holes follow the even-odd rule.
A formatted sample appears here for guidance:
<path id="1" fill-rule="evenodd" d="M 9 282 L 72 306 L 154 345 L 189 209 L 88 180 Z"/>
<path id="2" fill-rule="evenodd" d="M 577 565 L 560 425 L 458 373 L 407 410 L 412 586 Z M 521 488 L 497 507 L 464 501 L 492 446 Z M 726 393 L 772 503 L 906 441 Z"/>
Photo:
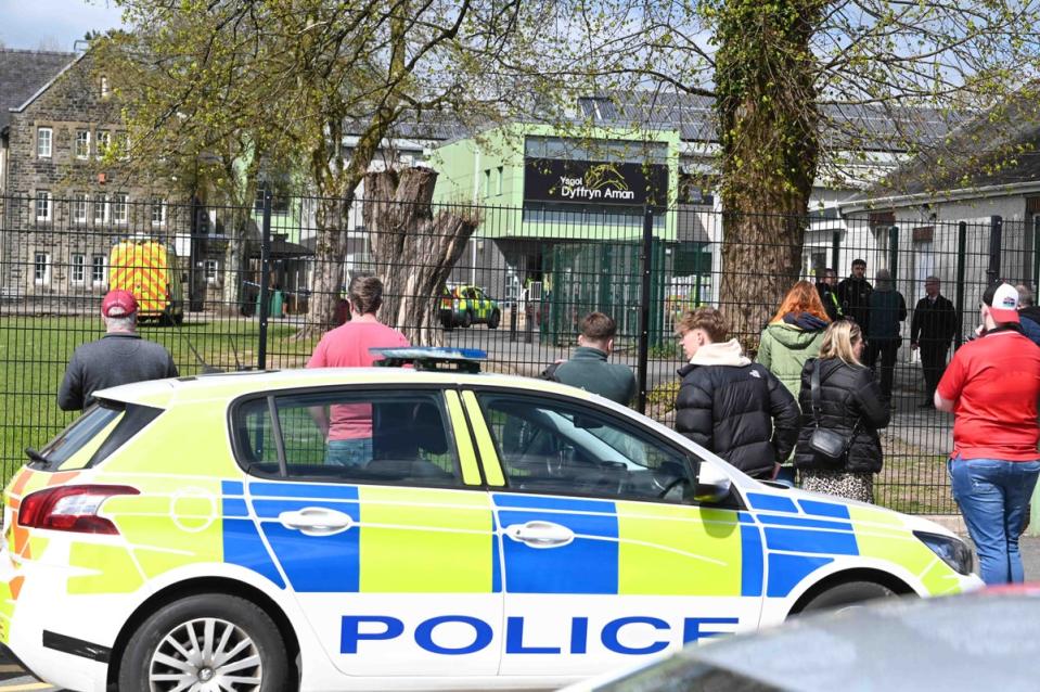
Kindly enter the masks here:
<path id="1" fill-rule="evenodd" d="M 820 357 L 801 371 L 801 431 L 795 466 L 801 487 L 861 502 L 874 501 L 874 474 L 882 469 L 879 428 L 888 425 L 889 409 L 870 369 L 860 364 L 863 335 L 851 321 L 832 322 L 823 335 Z M 820 410 L 813 413 L 812 373 L 820 370 Z M 819 419 L 819 421 L 817 420 Z M 831 459 L 809 446 L 817 425 L 851 437 L 848 451 Z"/>

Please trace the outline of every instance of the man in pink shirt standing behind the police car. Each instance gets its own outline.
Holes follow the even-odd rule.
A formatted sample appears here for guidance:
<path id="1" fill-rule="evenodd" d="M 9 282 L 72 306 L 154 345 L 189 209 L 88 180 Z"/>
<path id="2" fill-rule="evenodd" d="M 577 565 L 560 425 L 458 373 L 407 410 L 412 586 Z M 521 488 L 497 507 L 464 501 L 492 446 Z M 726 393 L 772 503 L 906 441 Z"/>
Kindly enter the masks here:
<path id="1" fill-rule="evenodd" d="M 347 300 L 350 321 L 321 337 L 308 368 L 369 368 L 377 360 L 370 348 L 410 345 L 403 334 L 375 317 L 383 304 L 383 282 L 376 277 L 351 281 Z M 371 405 L 319 407 L 311 409 L 311 415 L 328 441 L 325 463 L 363 466 L 372 460 Z"/>

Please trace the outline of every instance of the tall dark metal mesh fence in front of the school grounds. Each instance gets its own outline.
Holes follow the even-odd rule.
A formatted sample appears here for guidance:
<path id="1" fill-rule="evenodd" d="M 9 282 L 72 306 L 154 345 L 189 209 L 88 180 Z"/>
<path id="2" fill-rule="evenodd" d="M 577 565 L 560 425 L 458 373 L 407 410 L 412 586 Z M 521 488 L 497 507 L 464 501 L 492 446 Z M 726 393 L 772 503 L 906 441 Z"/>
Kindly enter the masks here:
<path id="1" fill-rule="evenodd" d="M 666 424 L 683 361 L 677 320 L 698 305 L 735 309 L 720 302 L 724 223 L 710 207 L 381 203 L 380 212 L 372 202 L 344 207 L 267 196 L 265 209 L 262 200 L 202 206 L 118 194 L 0 197 L 0 204 L 4 477 L 23 463 L 26 447 L 40 447 L 74 418 L 57 408 L 55 394 L 75 347 L 102 335 L 99 307 L 112 287 L 141 298 L 141 333 L 172 353 L 181 374 L 303 367 L 320 334 L 347 319 L 343 289 L 355 275 L 381 275 L 390 304 L 407 298 L 421 306 L 383 315 L 413 341 L 483 348 L 490 370 L 519 375 L 566 358 L 578 321 L 602 310 L 619 328 L 614 360 L 645 383 L 639 405 Z M 475 231 L 451 245 L 461 222 Z M 825 267 L 843 278 L 853 259 L 865 260 L 871 283 L 878 269 L 891 272 L 908 316 L 893 368 L 893 422 L 882 434 L 877 501 L 908 512 L 953 512 L 942 463 L 952 418 L 919 408 L 926 385 L 921 351 L 909 343 L 915 306 L 925 279 L 938 277 L 956 306 L 952 353 L 972 336 L 990 280 L 1036 281 L 1038 234 L 1020 221 L 1003 221 L 994 232 L 989 217 L 907 222 L 865 214 L 787 222 L 805 229 L 801 278 Z M 343 258 L 334 266 L 317 259 L 330 238 Z M 752 249 L 752 258 L 769 255 L 761 244 Z M 422 284 L 438 255 L 451 259 L 447 281 Z M 748 261 L 729 279 L 769 271 Z M 789 284 L 795 277 L 778 279 Z M 776 306 L 766 303 L 762 313 L 771 315 Z M 330 304 L 334 309 L 323 316 L 320 306 Z M 754 343 L 758 334 L 735 336 Z"/>

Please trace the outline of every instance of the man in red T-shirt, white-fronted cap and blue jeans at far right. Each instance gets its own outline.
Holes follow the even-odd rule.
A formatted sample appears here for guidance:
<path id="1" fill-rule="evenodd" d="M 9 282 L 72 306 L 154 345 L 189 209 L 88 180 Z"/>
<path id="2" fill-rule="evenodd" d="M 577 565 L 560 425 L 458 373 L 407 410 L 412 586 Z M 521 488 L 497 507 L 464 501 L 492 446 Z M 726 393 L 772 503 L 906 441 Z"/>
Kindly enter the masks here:
<path id="1" fill-rule="evenodd" d="M 1040 349 L 1022 333 L 1013 285 L 987 289 L 979 311 L 981 338 L 953 355 L 936 389 L 935 408 L 955 415 L 947 462 L 950 485 L 975 542 L 983 580 L 1019 582 L 1018 534 L 1040 474 Z"/>

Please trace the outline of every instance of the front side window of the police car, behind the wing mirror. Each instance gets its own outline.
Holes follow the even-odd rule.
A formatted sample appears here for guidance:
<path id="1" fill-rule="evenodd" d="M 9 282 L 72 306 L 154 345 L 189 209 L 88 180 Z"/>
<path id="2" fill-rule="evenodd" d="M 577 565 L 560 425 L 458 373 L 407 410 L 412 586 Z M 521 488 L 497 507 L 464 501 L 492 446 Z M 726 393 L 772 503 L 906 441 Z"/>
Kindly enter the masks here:
<path id="1" fill-rule="evenodd" d="M 478 395 L 511 488 L 680 502 L 684 456 L 649 431 L 563 401 Z"/>

